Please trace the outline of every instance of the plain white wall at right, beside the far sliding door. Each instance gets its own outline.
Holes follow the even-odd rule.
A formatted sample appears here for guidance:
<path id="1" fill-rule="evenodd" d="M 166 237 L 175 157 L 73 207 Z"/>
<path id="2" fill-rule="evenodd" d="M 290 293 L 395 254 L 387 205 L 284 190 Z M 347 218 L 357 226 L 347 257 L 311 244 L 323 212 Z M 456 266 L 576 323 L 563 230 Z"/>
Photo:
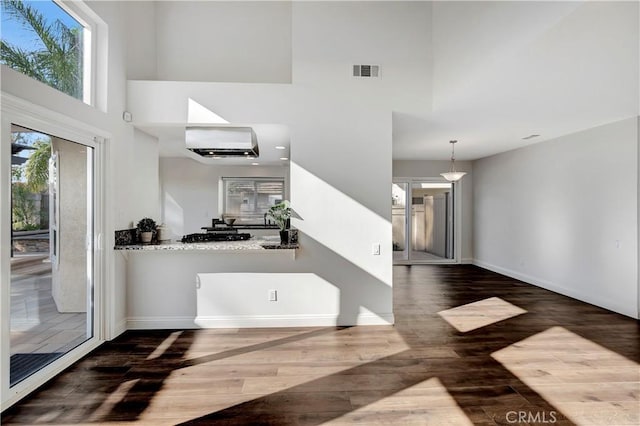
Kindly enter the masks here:
<path id="1" fill-rule="evenodd" d="M 638 317 L 636 117 L 474 162 L 474 256 Z"/>

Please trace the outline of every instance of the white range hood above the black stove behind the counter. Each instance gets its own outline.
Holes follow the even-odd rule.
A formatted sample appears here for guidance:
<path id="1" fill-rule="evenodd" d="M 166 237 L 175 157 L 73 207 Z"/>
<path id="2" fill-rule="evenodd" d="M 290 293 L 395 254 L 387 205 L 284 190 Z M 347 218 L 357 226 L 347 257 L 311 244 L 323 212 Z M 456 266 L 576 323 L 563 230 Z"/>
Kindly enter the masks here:
<path id="1" fill-rule="evenodd" d="M 187 127 L 187 149 L 203 157 L 257 158 L 258 139 L 251 127 Z"/>

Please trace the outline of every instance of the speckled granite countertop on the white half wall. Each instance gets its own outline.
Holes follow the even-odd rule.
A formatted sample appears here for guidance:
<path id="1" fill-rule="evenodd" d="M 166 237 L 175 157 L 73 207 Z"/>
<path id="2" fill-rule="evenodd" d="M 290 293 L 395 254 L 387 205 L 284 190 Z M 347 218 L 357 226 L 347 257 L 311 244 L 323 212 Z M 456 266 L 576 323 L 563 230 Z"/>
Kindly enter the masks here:
<path id="1" fill-rule="evenodd" d="M 265 251 L 292 250 L 298 244 L 280 244 L 280 237 L 252 237 L 244 241 L 211 241 L 204 243 L 163 242 L 160 244 L 133 244 L 115 246 L 114 250 L 219 250 L 219 251 Z"/>

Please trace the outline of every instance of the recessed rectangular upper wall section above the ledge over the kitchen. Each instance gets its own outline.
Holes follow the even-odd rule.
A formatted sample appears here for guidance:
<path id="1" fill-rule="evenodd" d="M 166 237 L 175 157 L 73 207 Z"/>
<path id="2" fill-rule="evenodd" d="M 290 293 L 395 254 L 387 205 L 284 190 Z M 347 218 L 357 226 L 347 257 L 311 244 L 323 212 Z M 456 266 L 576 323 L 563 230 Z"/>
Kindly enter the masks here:
<path id="1" fill-rule="evenodd" d="M 160 80 L 291 82 L 291 2 L 155 5 Z"/>

